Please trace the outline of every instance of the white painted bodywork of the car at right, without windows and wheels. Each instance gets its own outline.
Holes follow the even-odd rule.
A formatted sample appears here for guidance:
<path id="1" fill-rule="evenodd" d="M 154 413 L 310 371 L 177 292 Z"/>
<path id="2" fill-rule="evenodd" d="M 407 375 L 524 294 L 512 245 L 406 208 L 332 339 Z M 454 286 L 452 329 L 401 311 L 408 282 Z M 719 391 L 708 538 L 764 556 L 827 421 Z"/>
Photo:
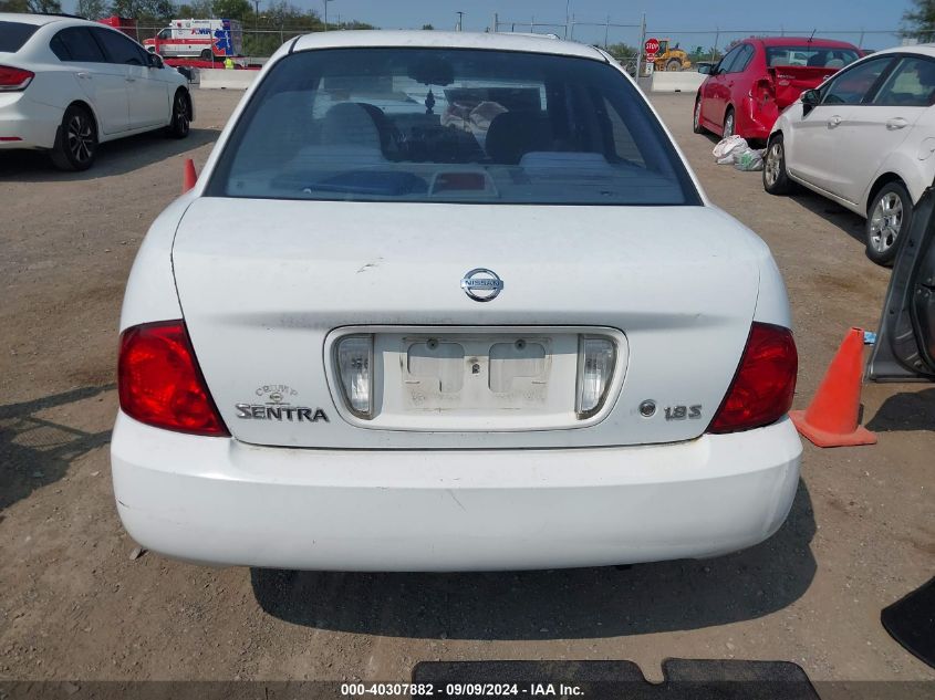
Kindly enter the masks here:
<path id="1" fill-rule="evenodd" d="M 868 59 L 889 54 L 935 60 L 935 46 L 902 46 Z M 798 100 L 772 127 L 772 134 L 782 133 L 789 177 L 854 213 L 868 216 L 882 178 L 902 180 L 914 203 L 935 181 L 935 107 L 821 104 L 803 113 Z"/>

